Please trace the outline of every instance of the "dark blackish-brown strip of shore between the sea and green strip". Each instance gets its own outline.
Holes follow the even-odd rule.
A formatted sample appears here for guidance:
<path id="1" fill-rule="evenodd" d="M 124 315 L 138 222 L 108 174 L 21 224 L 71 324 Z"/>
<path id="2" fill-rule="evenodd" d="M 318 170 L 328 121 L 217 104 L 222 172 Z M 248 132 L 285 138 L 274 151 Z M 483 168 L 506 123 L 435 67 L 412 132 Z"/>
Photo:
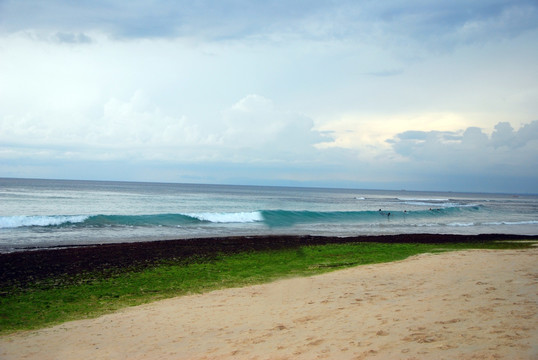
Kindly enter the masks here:
<path id="1" fill-rule="evenodd" d="M 277 250 L 303 245 L 351 242 L 429 243 L 490 242 L 497 240 L 536 240 L 538 235 L 441 235 L 401 234 L 356 237 L 326 236 L 237 236 L 182 239 L 119 244 L 35 249 L 0 254 L 0 289 L 40 282 L 51 278 L 76 277 L 85 273 L 111 276 L 126 270 L 140 270 L 157 263 L 193 262 L 211 259 L 218 254 L 244 251 Z"/>

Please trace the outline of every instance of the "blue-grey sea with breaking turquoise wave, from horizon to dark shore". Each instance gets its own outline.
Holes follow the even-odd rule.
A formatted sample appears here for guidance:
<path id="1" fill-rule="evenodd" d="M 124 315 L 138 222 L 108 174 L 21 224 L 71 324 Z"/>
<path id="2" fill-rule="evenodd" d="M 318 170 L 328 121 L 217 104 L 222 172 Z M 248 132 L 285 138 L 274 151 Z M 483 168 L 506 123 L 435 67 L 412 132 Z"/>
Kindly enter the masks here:
<path id="1" fill-rule="evenodd" d="M 0 178 L 0 252 L 213 236 L 538 234 L 538 196 Z"/>

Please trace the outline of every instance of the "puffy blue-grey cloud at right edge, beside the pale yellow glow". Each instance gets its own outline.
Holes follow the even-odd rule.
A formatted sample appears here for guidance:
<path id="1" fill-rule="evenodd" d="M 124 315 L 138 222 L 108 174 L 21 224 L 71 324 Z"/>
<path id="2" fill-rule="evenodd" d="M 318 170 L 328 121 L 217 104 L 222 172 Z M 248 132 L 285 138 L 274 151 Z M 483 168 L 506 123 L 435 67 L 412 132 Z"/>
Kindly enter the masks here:
<path id="1" fill-rule="evenodd" d="M 491 135 L 476 127 L 455 132 L 406 131 L 388 143 L 415 166 L 427 164 L 423 171 L 538 177 L 538 121 L 517 132 L 502 122 Z"/>

